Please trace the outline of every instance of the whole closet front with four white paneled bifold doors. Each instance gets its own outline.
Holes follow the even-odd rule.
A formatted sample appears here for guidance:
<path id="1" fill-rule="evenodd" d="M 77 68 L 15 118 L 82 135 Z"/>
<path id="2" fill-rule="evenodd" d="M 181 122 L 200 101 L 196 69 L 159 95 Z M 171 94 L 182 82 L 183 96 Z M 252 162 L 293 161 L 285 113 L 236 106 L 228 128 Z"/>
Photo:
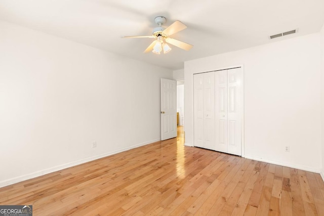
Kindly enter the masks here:
<path id="1" fill-rule="evenodd" d="M 241 155 L 241 68 L 193 75 L 194 146 Z"/>

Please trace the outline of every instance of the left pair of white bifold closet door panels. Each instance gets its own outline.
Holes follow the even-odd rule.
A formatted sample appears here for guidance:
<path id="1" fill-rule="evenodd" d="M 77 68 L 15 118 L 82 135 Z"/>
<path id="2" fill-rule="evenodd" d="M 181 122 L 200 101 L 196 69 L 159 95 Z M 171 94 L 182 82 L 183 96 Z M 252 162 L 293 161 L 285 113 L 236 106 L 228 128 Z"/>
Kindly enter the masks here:
<path id="1" fill-rule="evenodd" d="M 215 150 L 215 73 L 193 75 L 194 146 Z"/>

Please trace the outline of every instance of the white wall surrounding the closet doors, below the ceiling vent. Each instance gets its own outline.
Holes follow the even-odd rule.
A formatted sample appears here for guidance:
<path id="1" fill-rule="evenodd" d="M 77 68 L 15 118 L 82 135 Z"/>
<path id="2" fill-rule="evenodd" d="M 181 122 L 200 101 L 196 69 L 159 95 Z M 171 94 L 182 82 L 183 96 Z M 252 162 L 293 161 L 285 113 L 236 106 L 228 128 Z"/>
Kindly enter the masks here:
<path id="1" fill-rule="evenodd" d="M 319 172 L 319 43 L 315 33 L 185 62 L 185 145 L 193 145 L 192 74 L 244 65 L 245 157 Z"/>

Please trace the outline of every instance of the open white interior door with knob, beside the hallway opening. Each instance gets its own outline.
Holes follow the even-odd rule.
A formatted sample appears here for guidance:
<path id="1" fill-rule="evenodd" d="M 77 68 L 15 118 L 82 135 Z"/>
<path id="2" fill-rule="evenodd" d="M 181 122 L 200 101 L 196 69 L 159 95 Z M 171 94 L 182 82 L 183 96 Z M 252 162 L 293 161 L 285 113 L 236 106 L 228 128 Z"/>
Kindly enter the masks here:
<path id="1" fill-rule="evenodd" d="M 161 78 L 161 140 L 177 137 L 177 81 Z"/>

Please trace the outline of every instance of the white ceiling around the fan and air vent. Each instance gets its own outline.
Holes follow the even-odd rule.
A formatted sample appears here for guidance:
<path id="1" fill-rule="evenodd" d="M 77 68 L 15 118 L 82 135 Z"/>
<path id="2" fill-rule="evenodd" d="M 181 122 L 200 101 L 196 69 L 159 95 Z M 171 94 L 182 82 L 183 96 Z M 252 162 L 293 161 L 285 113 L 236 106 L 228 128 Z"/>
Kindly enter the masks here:
<path id="1" fill-rule="evenodd" d="M 168 54 L 144 54 L 156 16 L 187 29 L 172 37 L 194 45 Z M 323 0 L 1 0 L 0 19 L 85 45 L 177 70 L 187 60 L 319 32 Z M 297 28 L 270 40 L 269 35 Z M 1 32 L 0 32 L 1 33 Z"/>

